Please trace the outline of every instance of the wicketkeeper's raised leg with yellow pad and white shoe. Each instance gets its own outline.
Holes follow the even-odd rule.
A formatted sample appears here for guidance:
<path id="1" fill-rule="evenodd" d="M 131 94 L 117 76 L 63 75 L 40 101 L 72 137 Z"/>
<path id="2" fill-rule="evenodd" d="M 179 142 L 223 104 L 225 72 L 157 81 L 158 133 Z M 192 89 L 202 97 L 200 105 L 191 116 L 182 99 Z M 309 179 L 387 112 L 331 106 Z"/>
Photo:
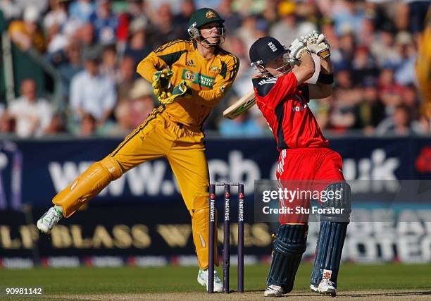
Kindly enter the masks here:
<path id="1" fill-rule="evenodd" d="M 89 199 L 99 194 L 111 181 L 120 178 L 130 168 L 164 156 L 172 142 L 165 139 L 165 129 L 161 118 L 157 118 L 158 113 L 160 109 L 155 109 L 142 125 L 125 137 L 112 154 L 92 164 L 67 188 L 59 192 L 52 200 L 56 206 L 39 219 L 37 227 L 42 232 L 48 232 L 61 217 L 74 214 Z"/>

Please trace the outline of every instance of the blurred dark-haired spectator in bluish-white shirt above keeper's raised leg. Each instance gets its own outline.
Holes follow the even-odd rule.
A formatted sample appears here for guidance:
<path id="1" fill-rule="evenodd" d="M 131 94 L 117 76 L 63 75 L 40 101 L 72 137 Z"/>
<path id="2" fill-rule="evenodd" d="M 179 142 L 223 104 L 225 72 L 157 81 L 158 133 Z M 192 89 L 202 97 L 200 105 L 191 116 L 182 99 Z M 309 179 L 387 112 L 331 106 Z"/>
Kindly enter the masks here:
<path id="1" fill-rule="evenodd" d="M 99 125 L 111 116 L 116 102 L 115 83 L 99 73 L 99 51 L 88 51 L 85 70 L 77 73 L 70 85 L 70 108 L 75 120 L 90 113 Z"/>

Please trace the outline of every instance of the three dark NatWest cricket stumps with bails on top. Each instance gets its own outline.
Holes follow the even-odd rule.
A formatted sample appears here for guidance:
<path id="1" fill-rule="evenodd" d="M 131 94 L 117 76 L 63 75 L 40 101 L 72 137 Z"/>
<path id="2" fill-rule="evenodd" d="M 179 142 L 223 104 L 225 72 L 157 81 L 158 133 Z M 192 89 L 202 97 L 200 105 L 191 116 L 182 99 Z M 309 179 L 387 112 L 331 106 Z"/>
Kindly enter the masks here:
<path id="1" fill-rule="evenodd" d="M 244 293 L 244 184 L 215 183 L 209 186 L 208 293 L 214 293 L 215 187 L 225 188 L 223 222 L 223 291 L 229 293 L 230 268 L 230 186 L 238 187 L 238 293 Z"/>

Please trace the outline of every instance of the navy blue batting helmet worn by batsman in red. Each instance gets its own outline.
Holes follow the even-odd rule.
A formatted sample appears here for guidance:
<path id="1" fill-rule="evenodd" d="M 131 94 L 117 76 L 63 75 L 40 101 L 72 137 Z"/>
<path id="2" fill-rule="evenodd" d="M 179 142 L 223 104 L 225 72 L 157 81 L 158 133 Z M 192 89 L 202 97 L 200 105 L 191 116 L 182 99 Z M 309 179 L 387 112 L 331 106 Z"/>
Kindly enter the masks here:
<path id="1" fill-rule="evenodd" d="M 265 64 L 273 61 L 283 54 L 287 49 L 274 37 L 261 37 L 254 42 L 249 51 L 251 65 Z"/>

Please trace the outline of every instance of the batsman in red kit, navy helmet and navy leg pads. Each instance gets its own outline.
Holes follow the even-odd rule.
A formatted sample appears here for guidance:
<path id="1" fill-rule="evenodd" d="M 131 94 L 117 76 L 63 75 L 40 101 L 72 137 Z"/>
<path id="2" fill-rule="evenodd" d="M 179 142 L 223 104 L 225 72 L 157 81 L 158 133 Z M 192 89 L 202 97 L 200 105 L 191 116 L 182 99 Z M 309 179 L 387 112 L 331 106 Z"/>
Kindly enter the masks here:
<path id="1" fill-rule="evenodd" d="M 307 84 L 315 65 L 311 53 L 320 57 L 320 74 L 315 85 Z M 337 275 L 350 216 L 350 187 L 342 174 L 341 156 L 328 147 L 328 140 L 313 116 L 308 102 L 330 96 L 334 76 L 330 45 L 323 34 L 313 32 L 295 39 L 289 49 L 273 37 L 262 37 L 251 46 L 251 66 L 260 73 L 253 78 L 256 104 L 268 121 L 280 151 L 277 179 L 325 181 L 325 192 L 340 196 L 321 202 L 327 209 L 344 209 L 343 214 L 321 214 L 316 259 L 310 288 L 335 296 Z M 328 210 L 330 211 L 330 210 Z M 308 219 L 280 216 L 273 259 L 267 278 L 266 297 L 289 293 L 306 250 Z"/>

